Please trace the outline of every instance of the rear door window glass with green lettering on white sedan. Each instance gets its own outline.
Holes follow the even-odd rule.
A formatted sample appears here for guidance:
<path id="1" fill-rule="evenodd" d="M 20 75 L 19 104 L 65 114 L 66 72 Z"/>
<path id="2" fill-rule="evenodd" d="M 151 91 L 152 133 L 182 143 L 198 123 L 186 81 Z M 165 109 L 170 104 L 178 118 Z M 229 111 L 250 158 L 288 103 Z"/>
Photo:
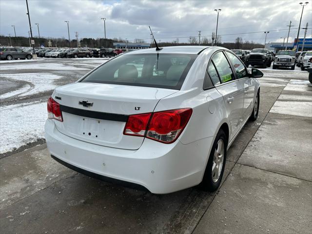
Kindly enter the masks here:
<path id="1" fill-rule="evenodd" d="M 213 57 L 215 68 L 219 73 L 221 83 L 234 80 L 234 74 L 225 55 L 222 52 L 216 53 Z"/>

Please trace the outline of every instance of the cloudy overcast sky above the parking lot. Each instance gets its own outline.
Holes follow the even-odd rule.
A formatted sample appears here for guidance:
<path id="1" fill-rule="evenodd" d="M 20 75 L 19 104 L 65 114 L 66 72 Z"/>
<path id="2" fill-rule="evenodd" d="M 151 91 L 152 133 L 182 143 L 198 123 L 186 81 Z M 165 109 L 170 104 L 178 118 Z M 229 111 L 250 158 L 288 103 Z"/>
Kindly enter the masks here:
<path id="1" fill-rule="evenodd" d="M 304 2 L 307 0 L 303 0 Z M 129 41 L 145 39 L 150 42 L 151 26 L 157 40 L 172 41 L 179 38 L 186 42 L 190 36 L 211 38 L 215 32 L 216 13 L 219 14 L 218 35 L 223 42 L 234 42 L 238 36 L 243 40 L 264 43 L 263 31 L 270 31 L 267 42 L 283 41 L 287 37 L 290 20 L 290 41 L 297 36 L 302 7 L 300 0 L 28 0 L 33 35 L 67 38 L 69 20 L 70 37 L 75 31 L 79 38 L 103 38 L 106 18 L 107 38 L 121 37 Z M 309 23 L 307 38 L 312 37 L 312 1 L 304 8 L 301 28 Z M 29 24 L 25 0 L 0 0 L 0 34 L 28 36 Z M 275 31 L 273 31 L 275 30 Z M 251 33 L 259 32 L 259 33 Z M 237 34 L 237 35 L 228 35 Z M 300 30 L 303 37 L 304 30 Z M 286 41 L 286 40 L 285 40 Z"/>

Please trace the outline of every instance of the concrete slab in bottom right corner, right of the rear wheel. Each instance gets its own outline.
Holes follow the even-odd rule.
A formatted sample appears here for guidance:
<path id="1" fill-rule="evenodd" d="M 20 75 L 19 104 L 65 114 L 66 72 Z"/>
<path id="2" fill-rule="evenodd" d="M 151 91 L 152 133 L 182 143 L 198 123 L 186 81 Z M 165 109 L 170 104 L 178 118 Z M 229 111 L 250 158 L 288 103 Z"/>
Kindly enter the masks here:
<path id="1" fill-rule="evenodd" d="M 194 234 L 310 234 L 312 183 L 236 164 Z"/>

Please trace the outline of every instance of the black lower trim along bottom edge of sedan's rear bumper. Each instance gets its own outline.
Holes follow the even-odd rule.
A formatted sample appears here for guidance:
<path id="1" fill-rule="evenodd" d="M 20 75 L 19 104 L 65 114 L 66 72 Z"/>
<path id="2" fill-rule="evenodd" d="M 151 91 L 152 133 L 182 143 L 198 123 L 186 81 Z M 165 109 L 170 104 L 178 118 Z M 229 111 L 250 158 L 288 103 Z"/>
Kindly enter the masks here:
<path id="1" fill-rule="evenodd" d="M 144 191 L 144 192 L 149 191 L 147 188 L 145 188 L 144 186 L 142 186 L 140 184 L 131 183 L 131 182 L 120 180 L 120 179 L 114 179 L 114 178 L 107 177 L 107 176 L 102 176 L 102 175 L 99 175 L 99 174 L 96 174 L 96 173 L 93 173 L 93 172 L 89 172 L 89 171 L 83 170 L 83 169 L 81 169 L 79 167 L 76 167 L 76 166 L 74 166 L 72 164 L 69 164 L 67 162 L 64 162 L 63 160 L 59 159 L 56 156 L 51 155 L 51 157 L 54 160 L 56 160 L 57 162 L 59 162 L 60 164 L 62 164 L 63 166 L 65 166 L 65 167 L 67 167 L 69 169 L 72 169 L 72 170 L 74 170 L 74 171 L 76 171 L 76 172 L 78 172 L 80 174 L 85 175 L 85 176 L 96 178 L 96 179 L 99 179 L 99 180 L 102 180 L 102 181 L 105 181 L 105 182 L 108 182 L 108 183 L 111 183 L 111 184 L 117 184 L 117 185 L 123 186 L 123 187 L 137 189 L 137 190 Z"/>

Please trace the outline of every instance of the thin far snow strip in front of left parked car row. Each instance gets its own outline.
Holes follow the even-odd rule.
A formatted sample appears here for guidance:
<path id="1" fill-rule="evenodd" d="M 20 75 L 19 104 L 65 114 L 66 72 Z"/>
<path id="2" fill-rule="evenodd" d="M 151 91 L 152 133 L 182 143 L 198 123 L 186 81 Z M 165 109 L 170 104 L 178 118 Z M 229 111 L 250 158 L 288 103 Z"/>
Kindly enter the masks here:
<path id="1" fill-rule="evenodd" d="M 24 69 L 42 69 L 42 70 L 89 70 L 81 67 L 71 67 L 60 63 L 36 63 L 36 64 L 12 64 L 1 65 L 0 71 L 3 70 L 24 70 Z"/>

